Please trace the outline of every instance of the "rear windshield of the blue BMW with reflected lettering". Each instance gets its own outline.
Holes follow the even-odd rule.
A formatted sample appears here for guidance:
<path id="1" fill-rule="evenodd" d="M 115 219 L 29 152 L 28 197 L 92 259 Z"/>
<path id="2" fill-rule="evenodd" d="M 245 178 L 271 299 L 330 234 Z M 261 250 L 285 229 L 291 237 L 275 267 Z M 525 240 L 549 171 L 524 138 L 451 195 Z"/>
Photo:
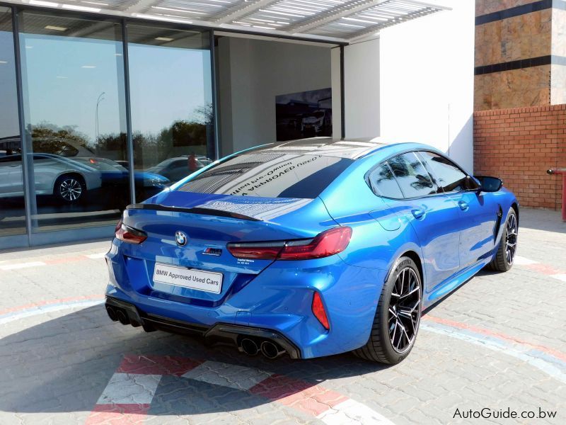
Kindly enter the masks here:
<path id="1" fill-rule="evenodd" d="M 257 153 L 232 157 L 204 171 L 179 191 L 264 198 L 316 198 L 352 159 Z"/>

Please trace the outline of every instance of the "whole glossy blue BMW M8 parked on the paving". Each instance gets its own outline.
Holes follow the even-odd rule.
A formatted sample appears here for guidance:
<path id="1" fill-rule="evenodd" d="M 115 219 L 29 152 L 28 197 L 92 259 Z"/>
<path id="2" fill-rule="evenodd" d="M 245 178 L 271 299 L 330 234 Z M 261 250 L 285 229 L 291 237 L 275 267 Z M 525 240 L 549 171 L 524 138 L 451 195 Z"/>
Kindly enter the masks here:
<path id="1" fill-rule="evenodd" d="M 427 145 L 262 145 L 127 207 L 105 307 L 252 356 L 398 363 L 422 310 L 485 266 L 512 267 L 518 224 L 501 180 Z"/>

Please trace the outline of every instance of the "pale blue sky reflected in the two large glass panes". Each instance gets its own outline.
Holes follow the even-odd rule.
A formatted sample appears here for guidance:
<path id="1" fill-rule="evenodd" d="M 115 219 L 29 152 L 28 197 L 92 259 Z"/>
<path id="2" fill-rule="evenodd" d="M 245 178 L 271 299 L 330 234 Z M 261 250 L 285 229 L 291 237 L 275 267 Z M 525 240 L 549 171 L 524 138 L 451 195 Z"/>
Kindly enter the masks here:
<path id="1" fill-rule="evenodd" d="M 27 123 L 42 121 L 76 125 L 96 140 L 125 131 L 120 113 L 122 95 L 122 42 L 22 33 L 22 60 L 29 98 Z M 129 45 L 132 120 L 141 132 L 156 133 L 175 120 L 198 118 L 195 111 L 212 101 L 209 50 L 153 45 Z M 207 86 L 208 85 L 208 86 Z M 16 125 L 17 129 L 17 125 Z"/>

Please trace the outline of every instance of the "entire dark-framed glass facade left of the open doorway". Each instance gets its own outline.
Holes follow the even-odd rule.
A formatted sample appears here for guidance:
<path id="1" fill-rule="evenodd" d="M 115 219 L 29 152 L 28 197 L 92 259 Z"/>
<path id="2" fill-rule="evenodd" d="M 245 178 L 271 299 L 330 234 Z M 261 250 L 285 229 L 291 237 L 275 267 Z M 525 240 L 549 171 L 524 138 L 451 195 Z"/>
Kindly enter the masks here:
<path id="1" fill-rule="evenodd" d="M 0 249 L 96 237 L 214 159 L 209 32 L 14 15 L 0 6 Z"/>

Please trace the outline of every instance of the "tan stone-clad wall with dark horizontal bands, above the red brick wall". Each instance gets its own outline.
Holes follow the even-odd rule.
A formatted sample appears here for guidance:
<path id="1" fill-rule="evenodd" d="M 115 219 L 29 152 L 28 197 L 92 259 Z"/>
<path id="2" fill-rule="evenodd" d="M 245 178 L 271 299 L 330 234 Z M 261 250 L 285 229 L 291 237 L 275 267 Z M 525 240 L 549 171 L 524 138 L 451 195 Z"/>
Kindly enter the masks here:
<path id="1" fill-rule="evenodd" d="M 516 6 L 524 7 L 509 10 Z M 541 1 L 476 1 L 475 111 L 550 104 L 551 75 L 560 72 L 550 56 L 556 9 L 541 7 Z"/>

